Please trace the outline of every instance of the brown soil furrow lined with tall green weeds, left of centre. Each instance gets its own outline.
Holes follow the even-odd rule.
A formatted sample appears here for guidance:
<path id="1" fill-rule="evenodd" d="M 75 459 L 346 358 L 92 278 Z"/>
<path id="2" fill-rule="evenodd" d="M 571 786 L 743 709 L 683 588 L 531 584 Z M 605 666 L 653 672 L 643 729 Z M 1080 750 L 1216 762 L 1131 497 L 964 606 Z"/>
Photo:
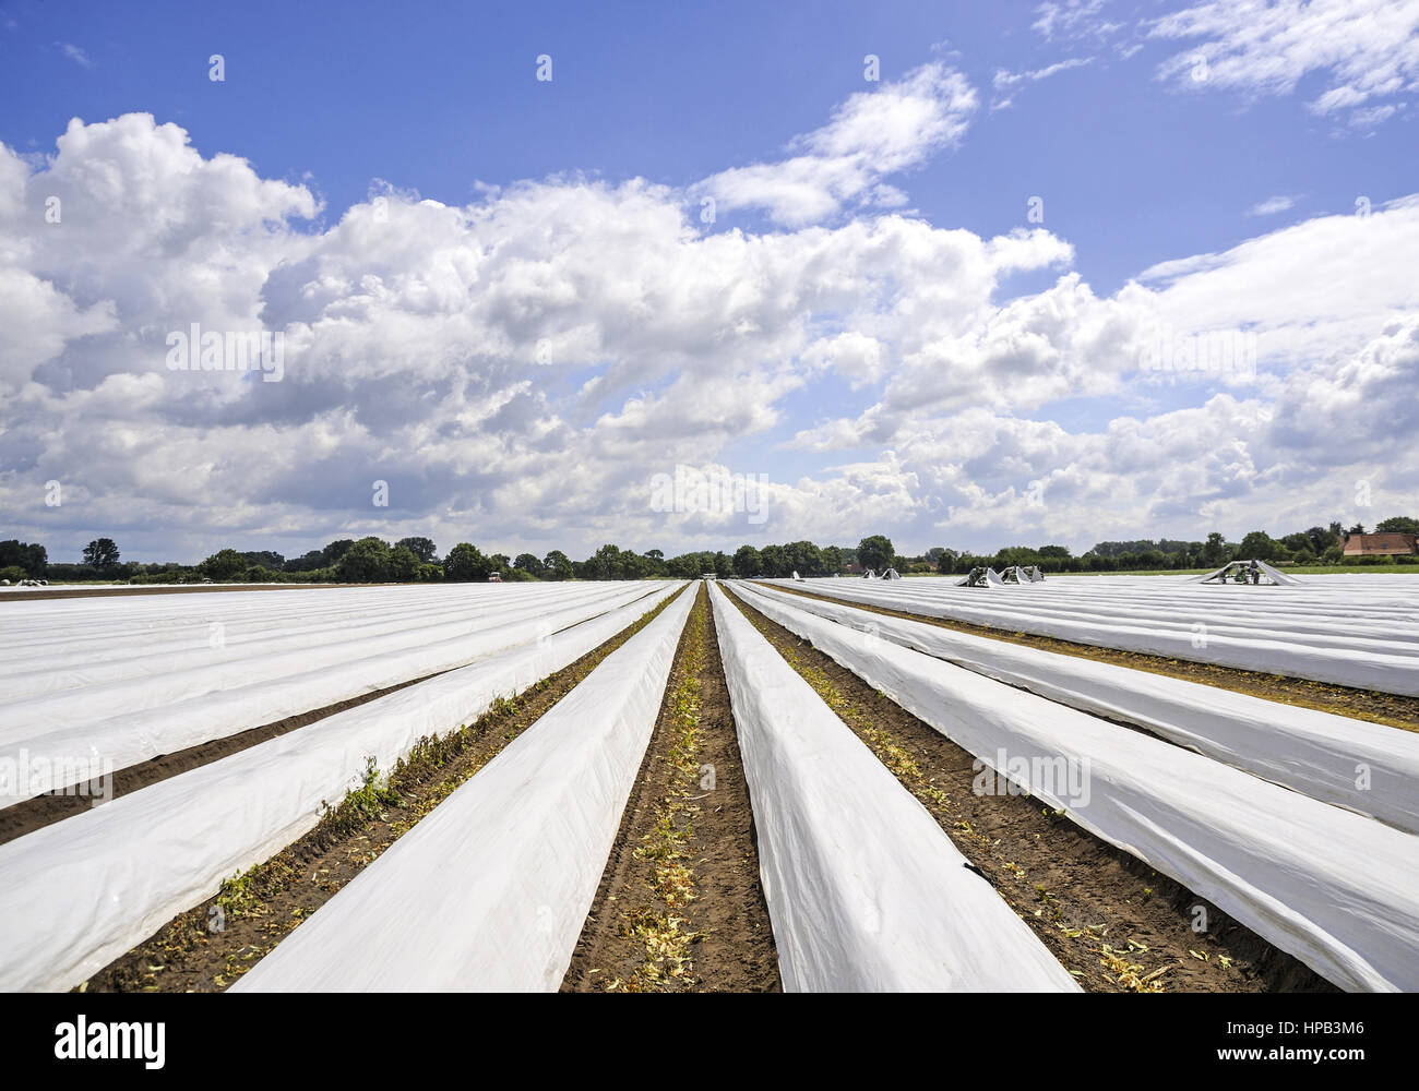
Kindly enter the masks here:
<path id="1" fill-rule="evenodd" d="M 350 793 L 308 834 L 230 880 L 216 897 L 175 916 L 79 990 L 226 989 L 644 628 L 668 602 L 572 665 L 512 699 L 499 699 L 474 724 L 423 741 L 390 773 L 387 787 L 370 785 Z"/>

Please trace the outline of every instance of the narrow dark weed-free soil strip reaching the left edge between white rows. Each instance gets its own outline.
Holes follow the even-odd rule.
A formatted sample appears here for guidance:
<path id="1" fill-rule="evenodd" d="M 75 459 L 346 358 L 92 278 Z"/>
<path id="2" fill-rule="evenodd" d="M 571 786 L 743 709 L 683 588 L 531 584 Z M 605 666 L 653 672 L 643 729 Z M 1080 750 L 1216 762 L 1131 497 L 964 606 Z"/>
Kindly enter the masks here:
<path id="1" fill-rule="evenodd" d="M 443 671 L 426 674 L 423 678 L 412 678 L 407 682 L 399 682 L 399 685 L 386 685 L 383 690 L 373 690 L 346 701 L 336 701 L 333 705 L 312 708 L 309 712 L 299 712 L 294 716 L 275 719 L 270 724 L 263 724 L 261 726 L 237 732 L 236 735 L 211 739 L 210 742 L 189 746 L 184 751 L 162 753 L 158 758 L 152 758 L 139 765 L 131 765 L 128 769 L 119 769 L 114 773 L 111 794 L 108 794 L 108 797 L 102 802 L 106 803 L 109 799 L 126 796 L 129 792 L 136 792 L 140 787 L 156 785 L 159 780 L 166 780 L 170 776 L 186 773 L 190 769 L 197 769 L 199 766 L 209 765 L 210 762 L 220 760 L 221 758 L 230 758 L 233 753 L 240 753 L 250 746 L 255 746 L 258 742 L 265 742 L 267 739 L 274 739 L 277 735 L 285 735 L 288 731 L 308 726 L 309 724 L 315 724 L 326 716 L 333 716 L 336 712 L 343 712 L 348 708 L 358 708 L 359 705 L 379 697 L 403 690 L 406 685 L 417 685 L 419 682 L 429 681 L 430 678 L 437 678 L 440 674 L 443 674 Z M 65 794 L 62 792 L 47 793 L 44 796 L 27 799 L 23 803 L 16 803 L 11 807 L 0 810 L 0 844 L 13 841 L 16 837 L 23 837 L 27 833 L 50 826 L 61 819 L 67 819 L 71 814 L 85 812 L 95 804 L 101 806 L 101 803 L 92 796 Z"/>

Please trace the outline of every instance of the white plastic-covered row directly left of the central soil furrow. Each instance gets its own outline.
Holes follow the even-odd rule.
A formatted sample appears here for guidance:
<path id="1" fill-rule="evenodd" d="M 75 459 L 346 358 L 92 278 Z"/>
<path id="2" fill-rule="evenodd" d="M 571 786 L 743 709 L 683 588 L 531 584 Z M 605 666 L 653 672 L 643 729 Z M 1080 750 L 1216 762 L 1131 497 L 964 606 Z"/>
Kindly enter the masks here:
<path id="1" fill-rule="evenodd" d="M 683 592 L 233 987 L 555 992 L 694 600 Z"/>

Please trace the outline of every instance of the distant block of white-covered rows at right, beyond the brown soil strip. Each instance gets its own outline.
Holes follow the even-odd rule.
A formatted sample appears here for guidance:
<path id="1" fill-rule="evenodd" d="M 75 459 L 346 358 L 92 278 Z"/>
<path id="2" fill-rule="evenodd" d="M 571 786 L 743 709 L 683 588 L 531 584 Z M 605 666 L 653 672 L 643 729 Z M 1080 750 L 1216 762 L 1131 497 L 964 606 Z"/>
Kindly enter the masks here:
<path id="1" fill-rule="evenodd" d="M 986 597 L 925 579 L 807 586 L 1012 633 L 1419 697 L 1419 577 L 1396 579 L 1313 576 L 1298 587 L 1239 585 L 1236 594 L 1166 576 L 1061 576 Z"/>

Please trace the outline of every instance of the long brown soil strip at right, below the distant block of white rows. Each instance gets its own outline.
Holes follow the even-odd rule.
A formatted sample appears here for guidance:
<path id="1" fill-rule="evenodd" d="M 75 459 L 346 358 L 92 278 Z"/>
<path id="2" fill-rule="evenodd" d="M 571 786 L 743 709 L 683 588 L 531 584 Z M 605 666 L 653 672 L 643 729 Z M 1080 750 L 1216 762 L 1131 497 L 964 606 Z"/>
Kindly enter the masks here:
<path id="1" fill-rule="evenodd" d="M 1040 637 L 1030 633 L 1009 633 L 1003 628 L 990 628 L 971 621 L 954 621 L 948 617 L 928 617 L 927 614 L 912 614 L 904 610 L 893 610 L 884 606 L 867 606 L 866 603 L 834 599 L 830 594 L 813 594 L 771 585 L 775 590 L 789 594 L 802 594 L 805 599 L 819 599 L 836 606 L 856 606 L 885 617 L 902 617 L 908 621 L 924 621 L 939 628 L 954 628 L 959 633 L 971 633 L 990 640 L 1003 640 L 1007 644 L 1023 644 L 1042 651 L 1056 651 L 1063 655 L 1077 655 L 1097 663 L 1112 663 L 1120 667 L 1131 667 L 1149 674 L 1164 674 L 1169 678 L 1183 678 L 1189 682 L 1215 685 L 1220 690 L 1233 690 L 1239 694 L 1260 697 L 1283 705 L 1298 705 L 1314 708 L 1321 712 L 1334 712 L 1338 716 L 1352 716 L 1354 719 L 1368 719 L 1375 724 L 1385 724 L 1402 731 L 1419 731 L 1419 697 L 1405 697 L 1402 694 L 1382 694 L 1374 690 L 1355 690 L 1347 685 L 1331 685 L 1328 682 L 1313 682 L 1305 678 L 1290 678 L 1283 674 L 1261 674 L 1246 671 L 1239 667 L 1222 667 L 1213 663 L 1192 663 L 1191 660 L 1169 660 L 1162 655 L 1148 655 L 1142 651 L 1121 651 L 1118 648 L 1100 648 L 1093 644 L 1076 644 L 1056 637 Z"/>

